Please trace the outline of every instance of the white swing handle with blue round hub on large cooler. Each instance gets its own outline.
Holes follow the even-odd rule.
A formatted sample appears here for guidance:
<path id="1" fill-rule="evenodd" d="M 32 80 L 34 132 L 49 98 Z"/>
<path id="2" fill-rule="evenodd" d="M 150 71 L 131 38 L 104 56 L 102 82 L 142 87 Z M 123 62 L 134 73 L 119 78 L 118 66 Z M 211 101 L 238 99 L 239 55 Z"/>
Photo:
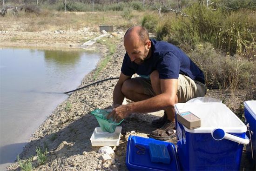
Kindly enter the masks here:
<path id="1" fill-rule="evenodd" d="M 229 139 L 231 141 L 243 144 L 243 145 L 248 145 L 250 140 L 249 138 L 245 135 L 245 138 L 240 138 L 237 137 L 235 135 L 226 133 L 224 130 L 222 130 L 221 128 L 216 128 L 214 129 L 212 132 L 212 138 L 214 138 L 215 140 L 219 141 L 222 140 L 223 138 L 225 139 Z"/>

